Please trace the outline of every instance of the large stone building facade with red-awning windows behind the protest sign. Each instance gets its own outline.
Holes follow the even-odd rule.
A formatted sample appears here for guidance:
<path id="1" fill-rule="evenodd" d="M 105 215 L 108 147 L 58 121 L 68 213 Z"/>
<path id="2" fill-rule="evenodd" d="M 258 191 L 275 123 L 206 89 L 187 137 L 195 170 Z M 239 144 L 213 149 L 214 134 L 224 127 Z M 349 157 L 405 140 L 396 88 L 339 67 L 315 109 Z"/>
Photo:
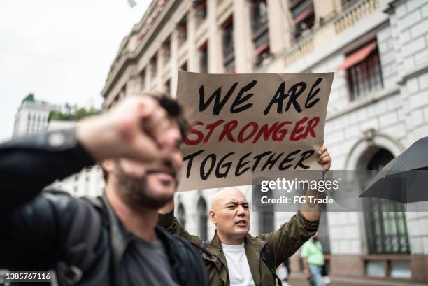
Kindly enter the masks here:
<path id="1" fill-rule="evenodd" d="M 428 1 L 152 1 L 102 90 L 176 94 L 178 69 L 208 73 L 334 71 L 324 144 L 332 169 L 380 169 L 428 134 Z M 251 187 L 243 187 L 251 200 Z M 176 196 L 188 231 L 211 237 L 217 190 Z M 331 275 L 428 282 L 428 213 L 327 213 L 321 238 Z M 253 235 L 292 213 L 252 213 Z M 292 257 L 299 271 L 299 255 Z"/>

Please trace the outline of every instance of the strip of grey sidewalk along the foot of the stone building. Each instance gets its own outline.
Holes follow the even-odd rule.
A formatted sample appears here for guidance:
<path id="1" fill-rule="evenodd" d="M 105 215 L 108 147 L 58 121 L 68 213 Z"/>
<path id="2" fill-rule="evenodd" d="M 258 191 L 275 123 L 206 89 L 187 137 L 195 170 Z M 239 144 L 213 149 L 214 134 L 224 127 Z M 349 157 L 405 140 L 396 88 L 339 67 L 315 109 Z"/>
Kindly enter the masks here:
<path id="1" fill-rule="evenodd" d="M 427 284 L 420 283 L 406 283 L 391 280 L 376 280 L 367 278 L 350 278 L 331 276 L 331 284 L 329 286 L 427 286 Z M 309 286 L 306 278 L 299 273 L 292 273 L 288 281 L 290 286 Z"/>

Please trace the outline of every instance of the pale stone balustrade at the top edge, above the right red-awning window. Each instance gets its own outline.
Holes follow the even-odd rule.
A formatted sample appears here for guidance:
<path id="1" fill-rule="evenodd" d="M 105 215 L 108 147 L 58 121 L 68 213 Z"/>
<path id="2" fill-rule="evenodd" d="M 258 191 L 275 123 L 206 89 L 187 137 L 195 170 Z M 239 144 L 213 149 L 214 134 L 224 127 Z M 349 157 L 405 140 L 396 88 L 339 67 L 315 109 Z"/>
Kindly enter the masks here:
<path id="1" fill-rule="evenodd" d="M 362 0 L 345 8 L 341 16 L 334 20 L 334 30 L 340 34 L 346 29 L 361 22 L 365 17 L 375 13 L 379 9 L 379 0 Z"/>

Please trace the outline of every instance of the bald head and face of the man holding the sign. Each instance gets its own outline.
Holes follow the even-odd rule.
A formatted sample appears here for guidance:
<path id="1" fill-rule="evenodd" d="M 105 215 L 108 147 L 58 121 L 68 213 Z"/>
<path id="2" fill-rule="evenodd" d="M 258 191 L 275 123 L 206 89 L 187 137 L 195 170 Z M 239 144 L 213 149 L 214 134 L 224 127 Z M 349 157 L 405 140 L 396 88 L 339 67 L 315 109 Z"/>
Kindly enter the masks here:
<path id="1" fill-rule="evenodd" d="M 245 195 L 236 188 L 220 192 L 213 202 L 211 218 L 217 233 L 230 240 L 245 238 L 250 231 L 250 210 Z"/>

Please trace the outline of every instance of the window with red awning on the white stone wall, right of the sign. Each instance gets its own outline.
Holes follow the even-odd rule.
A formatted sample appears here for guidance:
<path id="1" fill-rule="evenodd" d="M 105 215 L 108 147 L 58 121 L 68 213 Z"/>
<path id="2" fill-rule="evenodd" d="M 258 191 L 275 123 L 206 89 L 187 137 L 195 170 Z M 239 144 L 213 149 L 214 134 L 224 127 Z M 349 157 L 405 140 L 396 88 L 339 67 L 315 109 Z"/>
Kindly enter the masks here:
<path id="1" fill-rule="evenodd" d="M 346 70 L 350 99 L 356 100 L 383 88 L 382 70 L 376 41 L 346 56 L 338 68 Z"/>

